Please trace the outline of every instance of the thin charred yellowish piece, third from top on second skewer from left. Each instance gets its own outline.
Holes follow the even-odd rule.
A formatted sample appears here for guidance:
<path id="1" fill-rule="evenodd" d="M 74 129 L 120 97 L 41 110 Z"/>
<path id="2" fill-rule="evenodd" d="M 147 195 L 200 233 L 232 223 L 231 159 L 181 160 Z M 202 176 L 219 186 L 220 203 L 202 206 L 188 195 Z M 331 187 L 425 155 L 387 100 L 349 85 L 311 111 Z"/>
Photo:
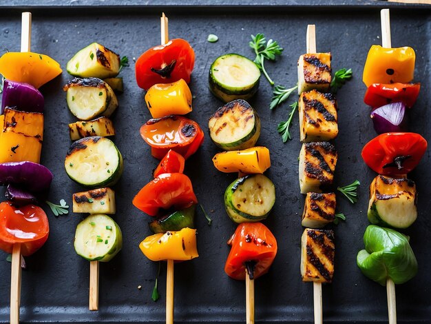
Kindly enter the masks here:
<path id="1" fill-rule="evenodd" d="M 69 134 L 72 141 L 88 136 L 114 136 L 115 128 L 107 117 L 99 117 L 92 121 L 76 121 L 69 124 Z"/>

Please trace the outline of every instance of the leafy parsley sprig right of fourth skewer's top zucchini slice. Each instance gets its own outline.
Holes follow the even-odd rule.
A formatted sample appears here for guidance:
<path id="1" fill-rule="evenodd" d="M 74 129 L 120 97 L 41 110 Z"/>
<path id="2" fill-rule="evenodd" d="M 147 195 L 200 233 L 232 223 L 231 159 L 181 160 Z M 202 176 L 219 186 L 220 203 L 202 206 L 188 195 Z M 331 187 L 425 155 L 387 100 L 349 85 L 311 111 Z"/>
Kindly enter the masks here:
<path id="1" fill-rule="evenodd" d="M 269 77 L 268 73 L 265 70 L 264 61 L 275 61 L 275 57 L 277 55 L 281 55 L 283 52 L 283 48 L 278 45 L 277 41 L 273 41 L 269 39 L 266 41 L 264 34 L 256 34 L 256 36 L 251 35 L 251 41 L 249 45 L 255 51 L 256 57 L 254 62 L 257 67 L 264 72 L 266 79 L 269 81 L 271 85 L 274 85 L 274 81 Z"/>

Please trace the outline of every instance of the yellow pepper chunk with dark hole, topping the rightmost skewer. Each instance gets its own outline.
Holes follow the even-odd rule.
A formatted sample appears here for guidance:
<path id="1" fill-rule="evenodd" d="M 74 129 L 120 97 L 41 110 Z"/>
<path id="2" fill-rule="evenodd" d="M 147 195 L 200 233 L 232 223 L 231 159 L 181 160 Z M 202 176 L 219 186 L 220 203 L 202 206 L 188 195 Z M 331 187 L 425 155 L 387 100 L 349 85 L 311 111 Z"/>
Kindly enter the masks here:
<path id="1" fill-rule="evenodd" d="M 362 81 L 367 87 L 372 83 L 408 83 L 414 77 L 414 50 L 382 48 L 372 45 L 364 66 Z"/>

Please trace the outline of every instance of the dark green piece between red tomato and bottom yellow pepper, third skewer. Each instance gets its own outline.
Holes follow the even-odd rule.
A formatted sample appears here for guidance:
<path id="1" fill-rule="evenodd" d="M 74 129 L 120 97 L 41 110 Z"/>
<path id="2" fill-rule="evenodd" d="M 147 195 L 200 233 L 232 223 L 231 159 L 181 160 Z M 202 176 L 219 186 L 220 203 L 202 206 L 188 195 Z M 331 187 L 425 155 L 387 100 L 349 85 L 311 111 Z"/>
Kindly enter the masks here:
<path id="1" fill-rule="evenodd" d="M 196 228 L 194 224 L 195 210 L 196 205 L 191 205 L 184 210 L 160 216 L 149 223 L 149 229 L 154 234 L 157 234 L 167 231 L 180 231 L 185 227 Z"/>

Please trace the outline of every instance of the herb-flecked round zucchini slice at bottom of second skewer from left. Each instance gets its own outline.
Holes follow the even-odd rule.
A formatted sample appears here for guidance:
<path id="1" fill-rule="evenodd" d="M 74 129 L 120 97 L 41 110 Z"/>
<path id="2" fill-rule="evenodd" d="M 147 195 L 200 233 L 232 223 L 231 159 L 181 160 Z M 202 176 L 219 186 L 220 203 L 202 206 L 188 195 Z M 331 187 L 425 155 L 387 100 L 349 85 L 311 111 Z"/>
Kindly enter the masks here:
<path id="1" fill-rule="evenodd" d="M 105 214 L 94 214 L 76 226 L 76 254 L 88 261 L 110 261 L 123 247 L 118 224 Z"/>

